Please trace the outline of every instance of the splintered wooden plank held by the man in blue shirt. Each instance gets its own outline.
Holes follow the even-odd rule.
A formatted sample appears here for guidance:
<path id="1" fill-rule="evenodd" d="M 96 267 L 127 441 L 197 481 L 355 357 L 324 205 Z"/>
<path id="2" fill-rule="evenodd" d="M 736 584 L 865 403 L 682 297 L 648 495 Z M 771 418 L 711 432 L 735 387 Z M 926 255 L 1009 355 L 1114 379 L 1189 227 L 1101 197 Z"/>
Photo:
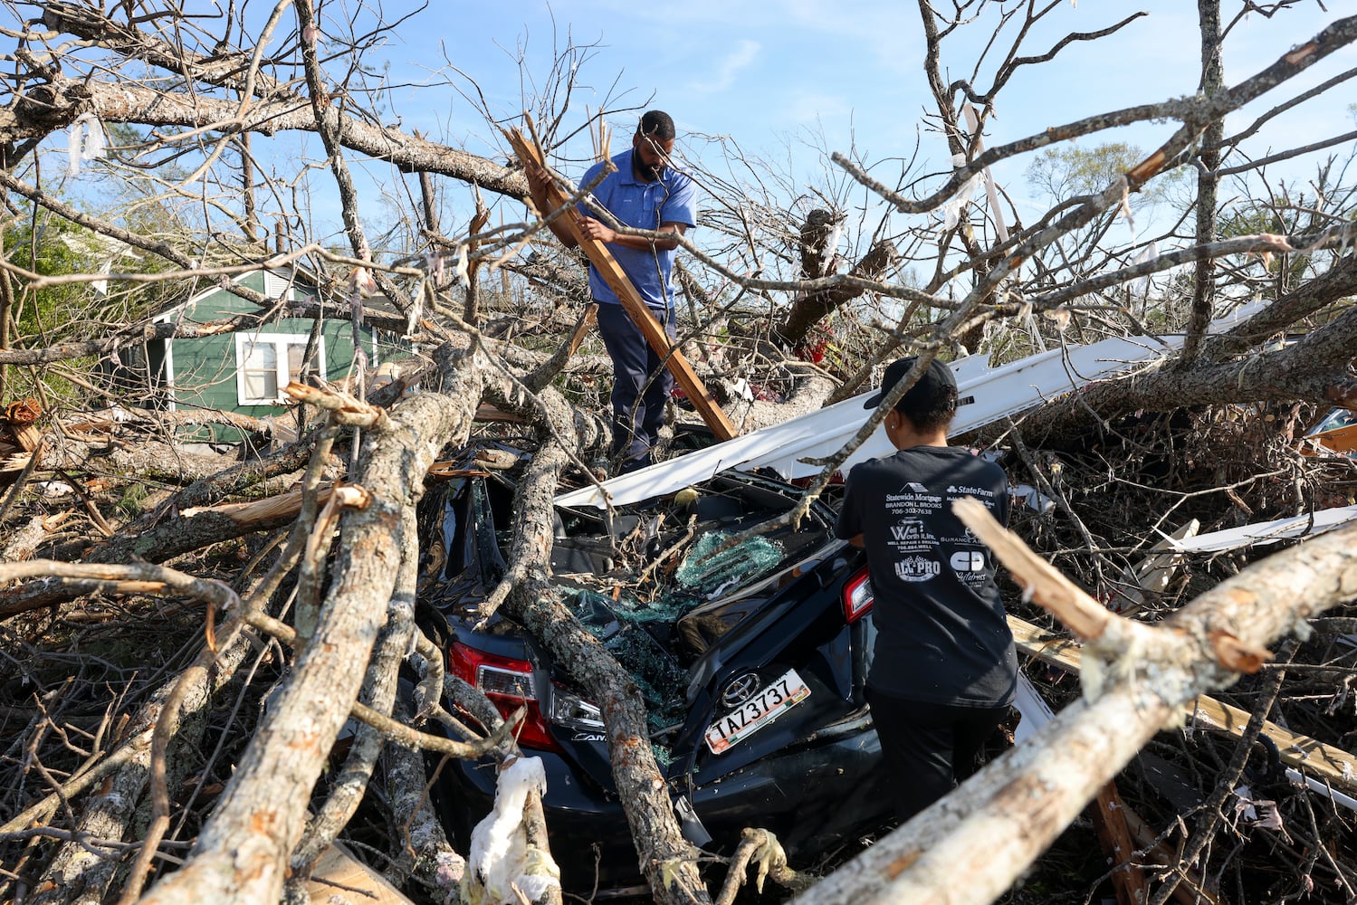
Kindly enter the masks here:
<path id="1" fill-rule="evenodd" d="M 505 137 L 513 147 L 514 153 L 518 155 L 518 160 L 524 166 L 529 160 L 541 163 L 541 149 L 536 147 L 535 142 L 529 142 L 524 138 L 522 133 L 517 129 L 505 129 Z M 547 186 L 547 204 L 551 209 L 563 208 L 570 204 L 570 198 L 560 190 L 559 186 L 551 183 Z M 550 213 L 543 210 L 543 214 Z M 692 369 L 688 358 L 684 357 L 678 347 L 669 342 L 669 334 L 665 332 L 664 326 L 655 320 L 655 316 L 650 313 L 650 305 L 647 305 L 636 288 L 631 285 L 631 280 L 627 278 L 626 271 L 623 271 L 622 265 L 617 259 L 612 256 L 608 251 L 608 246 L 594 239 L 590 239 L 579 232 L 575 227 L 574 217 L 570 214 L 563 214 L 559 218 L 560 223 L 566 225 L 570 235 L 574 236 L 579 247 L 593 262 L 593 266 L 598 270 L 598 274 L 604 278 L 608 286 L 617 293 L 617 300 L 622 301 L 623 309 L 631 316 L 636 327 L 641 330 L 641 335 L 646 338 L 650 347 L 655 350 L 655 354 L 665 360 L 669 373 L 674 376 L 678 385 L 683 387 L 684 392 L 688 393 L 688 400 L 692 403 L 697 414 L 702 415 L 703 422 L 711 429 L 711 433 L 716 436 L 718 440 L 731 440 L 738 433 L 735 426 L 722 411 L 721 404 L 707 389 L 706 384 L 697 377 L 697 373 Z"/>

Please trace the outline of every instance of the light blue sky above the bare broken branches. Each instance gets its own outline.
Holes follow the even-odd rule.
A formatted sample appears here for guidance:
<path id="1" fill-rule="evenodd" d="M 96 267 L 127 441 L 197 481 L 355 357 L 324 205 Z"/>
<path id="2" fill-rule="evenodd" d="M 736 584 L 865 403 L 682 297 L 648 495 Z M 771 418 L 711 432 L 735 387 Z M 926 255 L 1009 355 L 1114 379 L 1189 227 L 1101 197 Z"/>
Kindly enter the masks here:
<path id="1" fill-rule="evenodd" d="M 331 0 L 330 15 L 339 0 Z M 343 0 L 357 9 L 354 0 Z M 1007 3 L 1008 8 L 1019 4 Z M 1227 14 L 1239 4 L 1225 0 Z M 1310 0 L 1273 19 L 1251 14 L 1229 35 L 1225 49 L 1227 83 L 1236 83 L 1273 62 L 1281 53 L 1315 35 L 1342 12 L 1353 12 L 1352 0 L 1326 0 L 1329 11 Z M 387 19 L 403 12 L 402 3 L 384 4 Z M 1019 69 L 999 95 L 987 144 L 1011 141 L 1048 126 L 1136 103 L 1190 95 L 1197 87 L 1198 49 L 1196 4 L 1189 0 L 1151 0 L 1140 4 L 1065 1 L 1039 23 L 1025 53 L 1049 49 L 1069 31 L 1091 31 L 1145 9 L 1118 35 L 1099 42 L 1075 42 L 1048 64 Z M 989 16 L 992 20 L 993 16 Z M 974 23 L 943 45 L 949 77 L 970 77 L 982 37 L 992 28 Z M 324 28 L 324 19 L 322 20 Z M 917 5 L 900 0 L 681 0 L 642 4 L 622 0 L 574 0 L 548 5 L 540 0 L 499 4 L 434 0 L 417 12 L 384 43 L 370 47 L 365 61 L 389 65 L 398 87 L 389 94 L 391 110 L 406 128 L 419 128 L 468 151 L 502 155 L 491 130 L 475 106 L 459 94 L 471 91 L 474 79 L 490 109 L 512 117 L 522 109 L 524 94 L 541 90 L 556 52 L 569 43 L 589 45 L 578 69 L 578 88 L 571 99 L 567 126 L 584 121 L 584 109 L 646 104 L 668 110 L 687 134 L 680 148 L 712 166 L 715 148 L 702 136 L 729 137 L 740 148 L 788 170 L 799 190 L 830 174 L 829 151 L 855 148 L 866 160 L 911 153 L 916 141 L 936 170 L 944 151 L 936 133 L 924 130 L 923 115 L 931 110 L 923 76 L 923 34 Z M 991 60 L 974 79 L 987 85 Z M 520 68 L 518 57 L 524 66 Z M 456 66 L 453 73 L 449 69 Z M 1339 52 L 1314 66 L 1297 85 L 1310 85 L 1357 65 L 1357 52 Z M 1274 92 L 1276 100 L 1292 90 Z M 1346 111 L 1354 92 L 1339 87 L 1330 96 L 1307 104 L 1277 121 L 1273 140 L 1291 142 L 1295 136 L 1315 138 L 1353 129 Z M 1266 109 L 1273 95 L 1251 110 Z M 1270 103 L 1266 103 L 1270 106 Z M 1236 114 L 1232 128 L 1250 117 Z M 1335 125 L 1337 122 L 1337 125 Z M 635 114 L 615 118 L 622 138 L 634 128 Z M 1163 141 L 1177 123 L 1147 123 L 1125 133 L 1084 138 L 1129 140 L 1143 148 Z M 1263 134 L 1266 142 L 1269 134 Z M 1262 147 L 1255 147 L 1262 153 Z M 588 145 L 577 144 L 575 156 Z M 1026 159 L 996 168 L 1011 191 L 1022 193 Z M 582 164 L 567 164 L 567 175 L 579 175 Z M 372 175 L 385 180 L 380 167 Z M 1288 167 L 1296 178 L 1304 167 Z M 898 174 L 898 164 L 887 174 Z M 320 189 L 323 180 L 313 180 Z M 326 208 L 318 198 L 318 214 Z"/>

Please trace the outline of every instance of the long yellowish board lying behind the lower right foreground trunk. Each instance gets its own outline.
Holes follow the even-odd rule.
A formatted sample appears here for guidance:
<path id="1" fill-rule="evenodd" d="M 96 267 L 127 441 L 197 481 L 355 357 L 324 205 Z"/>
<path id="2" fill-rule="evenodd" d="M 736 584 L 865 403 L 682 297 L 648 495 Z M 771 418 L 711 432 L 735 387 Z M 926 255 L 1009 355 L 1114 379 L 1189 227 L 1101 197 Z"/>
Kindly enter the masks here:
<path id="1" fill-rule="evenodd" d="M 1008 617 L 1008 627 L 1014 632 L 1014 642 L 1025 654 L 1079 672 L 1083 651 L 1077 642 L 1052 635 L 1016 616 Z M 1183 716 L 1189 725 L 1208 725 L 1236 737 L 1248 725 L 1246 711 L 1205 695 L 1183 704 Z M 1263 723 L 1263 733 L 1277 744 L 1281 760 L 1288 767 L 1308 771 L 1335 788 L 1357 792 L 1357 757 L 1310 735 L 1285 730 L 1272 720 Z"/>

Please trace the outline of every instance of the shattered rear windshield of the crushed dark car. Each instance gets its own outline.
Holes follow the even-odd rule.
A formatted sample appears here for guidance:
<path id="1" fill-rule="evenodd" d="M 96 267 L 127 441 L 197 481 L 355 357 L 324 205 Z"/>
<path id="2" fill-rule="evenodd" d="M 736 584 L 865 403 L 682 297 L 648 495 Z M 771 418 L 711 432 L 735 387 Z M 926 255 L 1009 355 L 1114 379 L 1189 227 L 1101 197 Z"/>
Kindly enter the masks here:
<path id="1" fill-rule="evenodd" d="M 689 666 L 832 541 L 828 509 L 795 529 L 749 533 L 797 494 L 719 478 L 603 516 L 562 510 L 556 581 L 571 589 L 566 604 L 585 628 L 635 676 L 651 737 L 681 726 Z"/>

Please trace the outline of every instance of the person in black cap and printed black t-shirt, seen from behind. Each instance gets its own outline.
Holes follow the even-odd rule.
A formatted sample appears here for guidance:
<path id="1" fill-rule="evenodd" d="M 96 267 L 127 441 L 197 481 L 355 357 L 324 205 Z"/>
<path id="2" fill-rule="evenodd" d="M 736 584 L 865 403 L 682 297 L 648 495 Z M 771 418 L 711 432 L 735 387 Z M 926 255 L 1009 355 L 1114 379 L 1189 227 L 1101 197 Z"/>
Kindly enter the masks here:
<path id="1" fill-rule="evenodd" d="M 886 368 L 881 400 L 915 358 Z M 1018 661 L 989 550 L 953 514 L 974 497 L 1008 522 L 1003 469 L 947 445 L 957 381 L 934 360 L 882 426 L 898 452 L 848 474 L 835 533 L 867 551 L 877 644 L 867 703 L 882 768 L 906 821 L 976 771 L 1012 703 Z"/>

